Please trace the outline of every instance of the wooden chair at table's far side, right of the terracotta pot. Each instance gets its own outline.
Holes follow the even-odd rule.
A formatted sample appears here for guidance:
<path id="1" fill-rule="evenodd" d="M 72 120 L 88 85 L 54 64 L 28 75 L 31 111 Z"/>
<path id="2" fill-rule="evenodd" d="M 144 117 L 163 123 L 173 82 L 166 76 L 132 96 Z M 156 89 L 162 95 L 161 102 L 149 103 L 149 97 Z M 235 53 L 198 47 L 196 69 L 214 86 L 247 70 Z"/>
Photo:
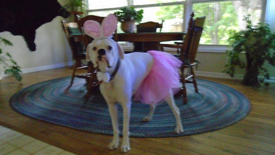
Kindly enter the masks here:
<path id="1" fill-rule="evenodd" d="M 162 29 L 162 23 L 157 23 L 157 22 L 145 22 L 145 23 L 140 23 L 137 25 L 137 33 L 148 33 L 148 32 L 157 32 L 157 28 L 160 28 L 160 32 Z M 143 50 L 143 42 L 133 42 L 134 44 L 134 49 L 133 51 L 144 51 Z M 146 52 L 146 51 L 144 51 Z"/>

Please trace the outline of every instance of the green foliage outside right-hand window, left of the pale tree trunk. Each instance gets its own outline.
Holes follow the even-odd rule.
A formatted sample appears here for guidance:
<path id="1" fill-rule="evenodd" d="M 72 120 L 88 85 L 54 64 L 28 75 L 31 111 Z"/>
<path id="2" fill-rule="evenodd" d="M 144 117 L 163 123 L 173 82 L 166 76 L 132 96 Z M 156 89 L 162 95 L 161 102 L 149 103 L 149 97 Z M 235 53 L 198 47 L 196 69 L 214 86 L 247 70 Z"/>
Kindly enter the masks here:
<path id="1" fill-rule="evenodd" d="M 193 11 L 194 19 L 206 16 L 201 36 L 203 44 L 228 44 L 229 30 L 238 29 L 237 15 L 231 1 L 195 3 Z"/>

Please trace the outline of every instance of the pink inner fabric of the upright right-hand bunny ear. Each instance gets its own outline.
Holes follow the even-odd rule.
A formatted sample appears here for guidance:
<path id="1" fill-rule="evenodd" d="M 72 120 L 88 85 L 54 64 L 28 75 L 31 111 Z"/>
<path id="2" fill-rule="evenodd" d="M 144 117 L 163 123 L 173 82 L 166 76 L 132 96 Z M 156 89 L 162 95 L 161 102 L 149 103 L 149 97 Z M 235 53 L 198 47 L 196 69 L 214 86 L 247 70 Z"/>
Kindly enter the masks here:
<path id="1" fill-rule="evenodd" d="M 111 36 L 117 28 L 117 19 L 113 14 L 109 14 L 104 18 L 101 24 L 102 33 L 104 36 Z"/>

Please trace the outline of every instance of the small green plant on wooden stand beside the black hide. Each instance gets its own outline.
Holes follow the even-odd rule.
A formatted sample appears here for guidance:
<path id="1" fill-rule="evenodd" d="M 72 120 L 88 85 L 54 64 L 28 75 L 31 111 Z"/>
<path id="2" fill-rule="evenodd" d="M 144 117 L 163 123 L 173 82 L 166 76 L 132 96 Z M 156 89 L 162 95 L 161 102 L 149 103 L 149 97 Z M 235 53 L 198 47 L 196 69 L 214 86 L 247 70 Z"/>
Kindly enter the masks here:
<path id="1" fill-rule="evenodd" d="M 72 14 L 82 14 L 85 6 L 85 0 L 69 0 L 61 9 L 66 9 Z"/>

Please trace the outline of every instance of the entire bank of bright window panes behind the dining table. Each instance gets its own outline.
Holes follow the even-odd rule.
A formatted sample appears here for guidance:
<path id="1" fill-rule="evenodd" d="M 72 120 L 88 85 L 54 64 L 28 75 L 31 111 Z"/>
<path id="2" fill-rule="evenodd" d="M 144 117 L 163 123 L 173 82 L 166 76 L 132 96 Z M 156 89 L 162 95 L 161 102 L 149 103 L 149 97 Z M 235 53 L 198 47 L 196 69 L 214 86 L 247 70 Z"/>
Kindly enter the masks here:
<path id="1" fill-rule="evenodd" d="M 163 21 L 162 32 L 180 32 L 186 30 L 189 13 L 194 11 L 195 18 L 207 17 L 199 49 L 215 51 L 219 47 L 226 49 L 230 30 L 245 28 L 244 15 L 250 14 L 253 24 L 263 21 L 265 3 L 266 0 L 117 0 L 115 3 L 113 0 L 88 0 L 87 12 L 89 15 L 106 16 L 124 6 L 133 6 L 144 10 L 142 23 Z M 118 32 L 122 32 L 120 25 Z M 131 44 L 123 46 L 130 47 Z"/>

